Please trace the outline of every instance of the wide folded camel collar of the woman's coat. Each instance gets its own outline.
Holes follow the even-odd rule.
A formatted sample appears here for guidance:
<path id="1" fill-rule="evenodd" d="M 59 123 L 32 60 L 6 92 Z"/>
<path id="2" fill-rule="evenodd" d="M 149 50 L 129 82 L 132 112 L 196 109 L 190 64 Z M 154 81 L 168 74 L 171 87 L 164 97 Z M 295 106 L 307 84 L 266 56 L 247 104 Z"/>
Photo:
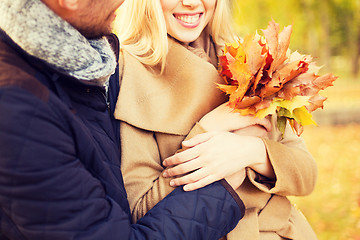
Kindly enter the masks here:
<path id="1" fill-rule="evenodd" d="M 126 51 L 115 118 L 149 131 L 186 135 L 200 118 L 225 102 L 217 69 L 169 39 L 164 73 L 156 74 Z M 121 68 L 121 67 L 120 67 Z"/>

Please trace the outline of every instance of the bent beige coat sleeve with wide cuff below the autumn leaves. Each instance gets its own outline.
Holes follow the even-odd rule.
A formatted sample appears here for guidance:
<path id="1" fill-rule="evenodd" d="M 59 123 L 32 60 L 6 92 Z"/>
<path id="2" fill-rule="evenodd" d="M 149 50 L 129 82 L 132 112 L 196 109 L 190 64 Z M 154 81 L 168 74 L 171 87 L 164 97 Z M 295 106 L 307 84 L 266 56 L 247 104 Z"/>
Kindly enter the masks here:
<path id="1" fill-rule="evenodd" d="M 250 181 L 260 190 L 283 196 L 303 196 L 310 194 L 317 179 L 317 165 L 308 151 L 304 140 L 298 137 L 287 124 L 284 137 L 276 129 L 273 116 L 273 131 L 268 139 L 263 139 L 276 180 L 263 181 L 261 176 L 247 169 Z M 259 180 L 260 179 L 260 180 Z"/>

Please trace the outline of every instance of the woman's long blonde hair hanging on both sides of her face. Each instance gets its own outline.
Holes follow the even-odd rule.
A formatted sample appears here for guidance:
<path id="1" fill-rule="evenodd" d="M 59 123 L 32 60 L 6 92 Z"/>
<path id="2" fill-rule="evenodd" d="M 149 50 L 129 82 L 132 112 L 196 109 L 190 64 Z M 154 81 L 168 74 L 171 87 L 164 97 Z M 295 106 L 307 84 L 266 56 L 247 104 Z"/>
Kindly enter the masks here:
<path id="1" fill-rule="evenodd" d="M 232 28 L 230 0 L 217 0 L 208 27 L 215 44 L 236 40 Z M 164 69 L 168 53 L 166 23 L 160 0 L 125 1 L 118 10 L 116 28 L 122 48 L 148 66 Z"/>

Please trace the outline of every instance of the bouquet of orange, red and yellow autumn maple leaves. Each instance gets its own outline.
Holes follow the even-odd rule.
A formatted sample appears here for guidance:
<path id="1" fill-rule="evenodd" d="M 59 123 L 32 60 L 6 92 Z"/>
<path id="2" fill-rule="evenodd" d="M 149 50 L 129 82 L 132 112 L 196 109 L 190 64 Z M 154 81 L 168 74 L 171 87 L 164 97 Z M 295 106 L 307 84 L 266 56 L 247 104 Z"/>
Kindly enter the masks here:
<path id="1" fill-rule="evenodd" d="M 318 75 L 319 67 L 308 55 L 289 50 L 292 26 L 279 31 L 271 21 L 264 36 L 246 36 L 226 44 L 219 57 L 219 72 L 226 84 L 218 87 L 229 94 L 229 105 L 242 115 L 264 118 L 277 114 L 277 127 L 284 133 L 289 121 L 297 135 L 303 126 L 316 123 L 311 112 L 323 108 L 320 90 L 332 86 L 337 77 Z"/>

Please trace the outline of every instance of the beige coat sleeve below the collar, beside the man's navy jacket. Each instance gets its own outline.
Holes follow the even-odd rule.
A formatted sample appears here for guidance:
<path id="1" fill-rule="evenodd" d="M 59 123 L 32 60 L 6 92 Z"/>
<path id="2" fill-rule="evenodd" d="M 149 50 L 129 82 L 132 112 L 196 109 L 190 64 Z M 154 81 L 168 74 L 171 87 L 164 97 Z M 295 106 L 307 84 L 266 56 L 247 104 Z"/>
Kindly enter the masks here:
<path id="1" fill-rule="evenodd" d="M 155 134 L 125 122 L 120 124 L 121 170 L 132 219 L 136 222 L 174 188 L 162 172 Z"/>

